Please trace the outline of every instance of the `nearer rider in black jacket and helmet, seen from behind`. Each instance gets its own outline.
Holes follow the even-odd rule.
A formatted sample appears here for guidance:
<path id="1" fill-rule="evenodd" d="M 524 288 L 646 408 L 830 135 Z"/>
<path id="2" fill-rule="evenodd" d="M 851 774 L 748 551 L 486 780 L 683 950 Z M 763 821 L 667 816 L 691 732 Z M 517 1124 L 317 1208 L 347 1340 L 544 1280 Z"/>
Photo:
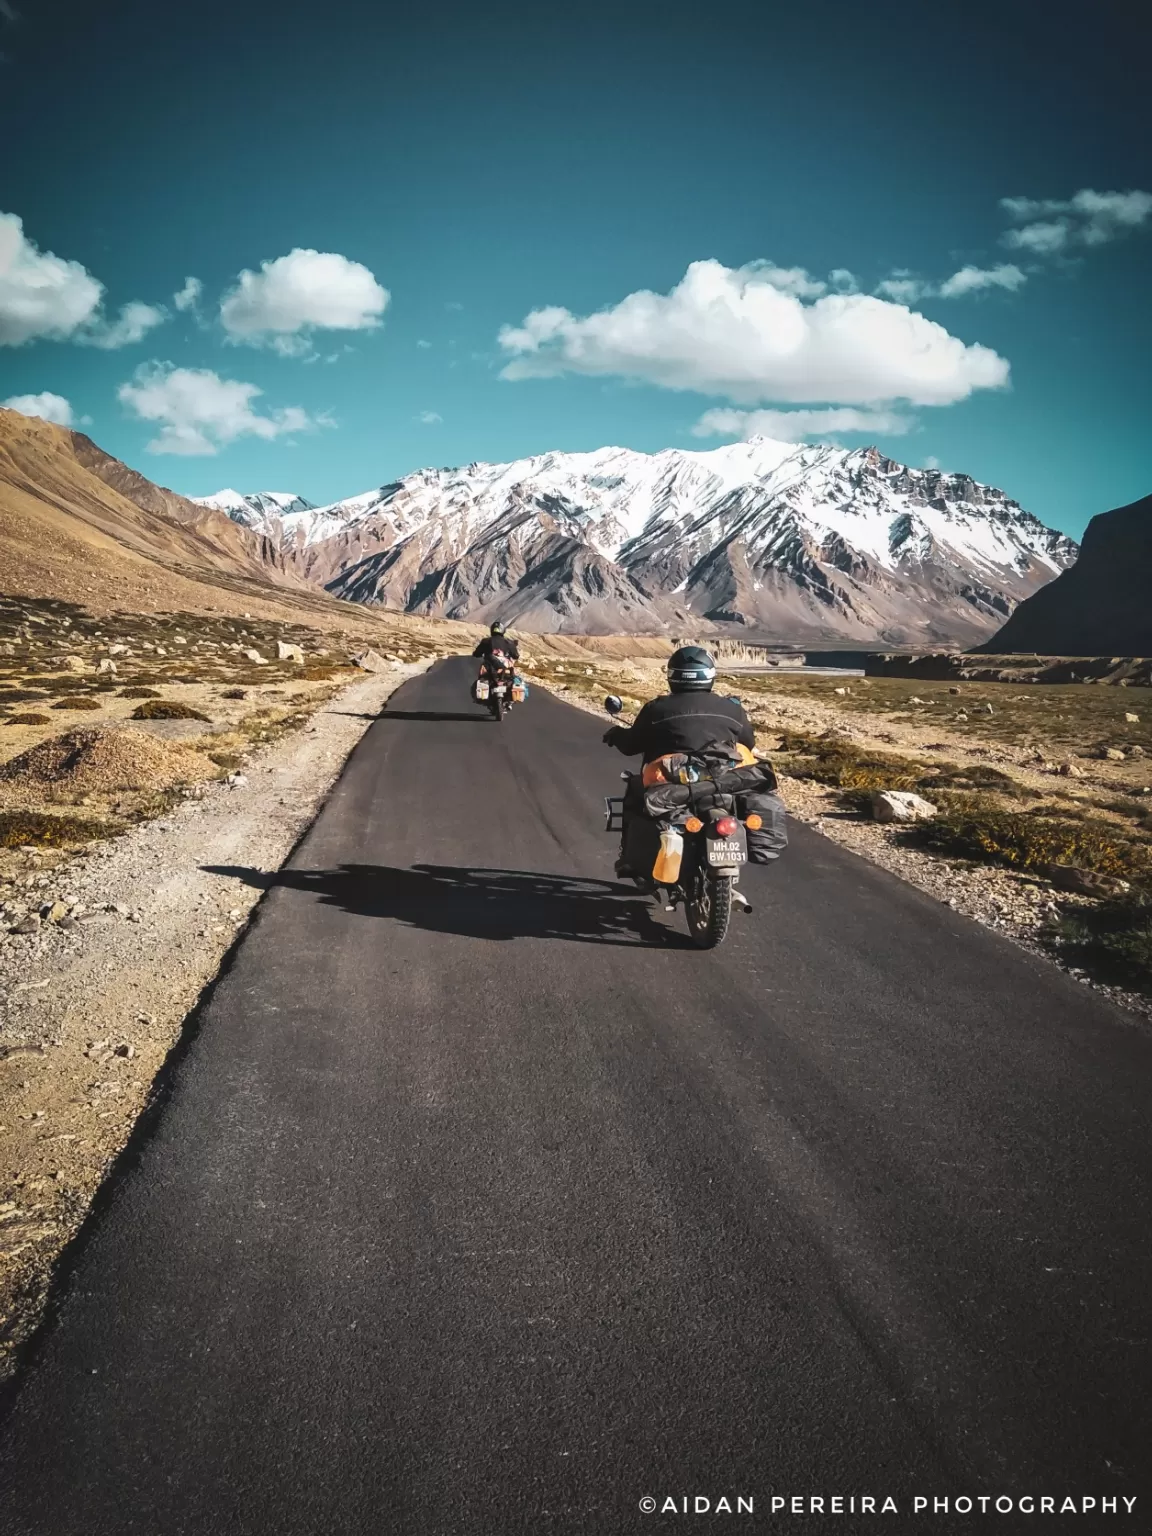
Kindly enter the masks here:
<path id="1" fill-rule="evenodd" d="M 716 662 L 699 645 L 682 645 L 668 657 L 665 667 L 668 693 L 651 699 L 636 716 L 633 725 L 613 725 L 604 734 L 607 746 L 614 746 L 625 757 L 641 754 L 644 763 L 673 753 L 699 754 L 710 750 L 728 753 L 739 765 L 737 782 L 746 779 L 746 790 L 739 790 L 740 814 L 759 811 L 763 829 L 748 834 L 748 856 L 753 863 L 770 863 L 786 846 L 785 813 L 779 799 L 771 794 L 776 776 L 766 765 L 756 763 L 753 746 L 756 731 L 739 699 L 725 699 L 713 693 Z M 642 776 L 628 783 L 624 802 L 625 828 L 621 839 L 621 857 L 616 876 L 634 874 L 624 848 L 628 839 L 630 816 L 647 816 Z"/>

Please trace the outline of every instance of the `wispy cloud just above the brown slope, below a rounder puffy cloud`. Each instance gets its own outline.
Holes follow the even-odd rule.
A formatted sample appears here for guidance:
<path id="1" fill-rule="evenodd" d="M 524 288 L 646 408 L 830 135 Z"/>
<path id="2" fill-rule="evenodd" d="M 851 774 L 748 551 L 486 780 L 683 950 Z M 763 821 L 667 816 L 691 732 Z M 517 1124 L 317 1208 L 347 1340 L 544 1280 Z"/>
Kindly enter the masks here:
<path id="1" fill-rule="evenodd" d="M 252 409 L 263 392 L 255 384 L 221 379 L 210 369 L 178 369 L 144 362 L 117 390 L 120 401 L 143 421 L 160 424 L 149 453 L 210 455 L 237 438 L 280 438 L 316 425 L 298 406 L 261 416 Z"/>

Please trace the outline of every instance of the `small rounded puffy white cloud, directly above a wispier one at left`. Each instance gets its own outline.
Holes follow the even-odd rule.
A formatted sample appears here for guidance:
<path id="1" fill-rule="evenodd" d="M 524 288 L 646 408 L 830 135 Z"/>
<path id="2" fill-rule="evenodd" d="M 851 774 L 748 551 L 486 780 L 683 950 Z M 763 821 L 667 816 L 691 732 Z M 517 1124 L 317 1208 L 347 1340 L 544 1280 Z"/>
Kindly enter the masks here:
<path id="1" fill-rule="evenodd" d="M 286 356 L 310 350 L 313 330 L 372 330 L 389 304 L 389 290 L 367 267 L 323 250 L 292 250 L 241 272 L 220 304 L 229 338 L 272 346 Z"/>

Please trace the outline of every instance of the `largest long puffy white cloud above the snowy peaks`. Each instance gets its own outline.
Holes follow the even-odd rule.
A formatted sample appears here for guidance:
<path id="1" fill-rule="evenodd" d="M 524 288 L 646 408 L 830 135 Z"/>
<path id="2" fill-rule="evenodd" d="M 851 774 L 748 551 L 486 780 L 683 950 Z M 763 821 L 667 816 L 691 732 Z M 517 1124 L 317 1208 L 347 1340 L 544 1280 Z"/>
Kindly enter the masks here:
<path id="1" fill-rule="evenodd" d="M 774 269 L 770 269 L 774 270 Z M 558 306 L 504 326 L 502 378 L 617 375 L 664 389 L 762 401 L 946 406 L 1008 382 L 1008 362 L 902 304 L 825 293 L 811 304 L 762 266 L 696 261 L 671 293 L 630 293 L 576 316 Z"/>

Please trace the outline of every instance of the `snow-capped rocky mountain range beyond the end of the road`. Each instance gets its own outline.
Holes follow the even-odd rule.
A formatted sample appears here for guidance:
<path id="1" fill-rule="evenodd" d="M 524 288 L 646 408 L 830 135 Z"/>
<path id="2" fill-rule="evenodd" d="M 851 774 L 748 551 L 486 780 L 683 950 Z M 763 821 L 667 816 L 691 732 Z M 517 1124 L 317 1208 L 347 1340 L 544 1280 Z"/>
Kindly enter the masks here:
<path id="1" fill-rule="evenodd" d="M 536 631 L 972 644 L 1077 554 L 966 475 L 766 438 L 425 468 L 327 507 L 206 504 L 263 518 L 341 598 Z"/>

